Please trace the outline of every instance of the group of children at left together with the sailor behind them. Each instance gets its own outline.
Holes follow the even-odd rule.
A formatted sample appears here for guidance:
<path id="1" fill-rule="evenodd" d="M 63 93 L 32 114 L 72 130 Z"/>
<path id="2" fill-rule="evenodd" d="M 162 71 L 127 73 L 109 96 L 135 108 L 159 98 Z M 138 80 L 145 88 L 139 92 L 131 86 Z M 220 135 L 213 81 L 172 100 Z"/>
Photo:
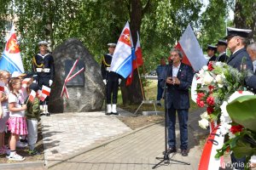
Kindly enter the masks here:
<path id="1" fill-rule="evenodd" d="M 39 154 L 36 150 L 38 122 L 41 115 L 49 116 L 48 97 L 44 102 L 40 98 L 42 86 L 52 85 L 54 60 L 48 53 L 48 42 L 38 42 L 38 46 L 39 53 L 32 59 L 32 72 L 0 71 L 0 154 L 9 160 L 25 160 L 16 152 L 17 147 L 28 145 L 29 155 Z M 8 141 L 5 141 L 6 131 Z"/>

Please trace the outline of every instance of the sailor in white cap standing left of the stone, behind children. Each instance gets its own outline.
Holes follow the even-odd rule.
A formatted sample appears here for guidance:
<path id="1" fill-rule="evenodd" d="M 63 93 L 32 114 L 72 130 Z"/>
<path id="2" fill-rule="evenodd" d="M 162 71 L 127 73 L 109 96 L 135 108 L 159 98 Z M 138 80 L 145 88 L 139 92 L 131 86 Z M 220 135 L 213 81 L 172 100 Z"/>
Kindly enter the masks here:
<path id="1" fill-rule="evenodd" d="M 40 51 L 32 58 L 32 69 L 38 75 L 36 79 L 38 86 L 40 88 L 42 88 L 43 85 L 50 87 L 55 76 L 54 59 L 47 49 L 48 42 L 38 42 L 38 46 Z M 48 101 L 49 99 L 47 97 L 41 105 L 41 109 L 43 109 L 43 113 L 46 116 L 49 116 Z"/>

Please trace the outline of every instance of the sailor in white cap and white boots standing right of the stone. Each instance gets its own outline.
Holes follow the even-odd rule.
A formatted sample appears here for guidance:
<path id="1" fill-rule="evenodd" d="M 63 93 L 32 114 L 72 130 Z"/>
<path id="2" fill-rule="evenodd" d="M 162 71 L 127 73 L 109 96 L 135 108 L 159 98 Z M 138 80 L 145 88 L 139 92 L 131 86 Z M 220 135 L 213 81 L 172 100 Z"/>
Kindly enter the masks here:
<path id="1" fill-rule="evenodd" d="M 106 101 L 107 101 L 107 111 L 106 115 L 119 115 L 119 113 L 116 111 L 116 104 L 117 104 L 117 95 L 119 90 L 119 82 L 120 82 L 120 76 L 119 74 L 109 71 L 112 57 L 113 57 L 113 51 L 115 49 L 116 44 L 115 43 L 108 43 L 108 54 L 105 54 L 102 57 L 102 78 L 103 82 L 106 85 L 107 88 L 107 94 L 106 94 Z M 112 100 L 111 100 L 112 98 Z M 112 103 L 112 105 L 111 105 Z"/>

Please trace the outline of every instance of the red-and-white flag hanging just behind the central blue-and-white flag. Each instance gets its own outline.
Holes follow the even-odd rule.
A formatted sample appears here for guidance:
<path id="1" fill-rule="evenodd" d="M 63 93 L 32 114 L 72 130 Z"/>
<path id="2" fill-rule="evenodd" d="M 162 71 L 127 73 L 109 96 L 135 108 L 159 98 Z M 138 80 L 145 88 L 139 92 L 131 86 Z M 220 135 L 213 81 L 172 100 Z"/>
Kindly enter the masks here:
<path id="1" fill-rule="evenodd" d="M 132 60 L 132 71 L 126 80 L 126 86 L 131 85 L 131 82 L 133 79 L 133 71 L 141 65 L 143 65 L 143 52 L 142 52 L 142 48 L 141 48 L 140 37 L 137 32 L 137 44 L 136 44 L 136 48 L 135 48 L 135 59 Z"/>

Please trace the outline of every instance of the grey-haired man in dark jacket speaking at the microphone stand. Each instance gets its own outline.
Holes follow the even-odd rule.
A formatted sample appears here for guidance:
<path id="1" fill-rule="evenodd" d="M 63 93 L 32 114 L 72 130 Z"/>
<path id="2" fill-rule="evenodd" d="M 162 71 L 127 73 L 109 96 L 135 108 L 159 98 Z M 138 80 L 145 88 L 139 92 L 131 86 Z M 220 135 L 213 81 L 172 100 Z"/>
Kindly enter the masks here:
<path id="1" fill-rule="evenodd" d="M 194 76 L 192 67 L 181 63 L 183 55 L 178 49 L 171 50 L 172 64 L 167 65 L 160 84 L 166 89 L 166 111 L 168 122 L 168 153 L 176 152 L 176 111 L 180 128 L 182 156 L 188 156 L 189 88 Z"/>

